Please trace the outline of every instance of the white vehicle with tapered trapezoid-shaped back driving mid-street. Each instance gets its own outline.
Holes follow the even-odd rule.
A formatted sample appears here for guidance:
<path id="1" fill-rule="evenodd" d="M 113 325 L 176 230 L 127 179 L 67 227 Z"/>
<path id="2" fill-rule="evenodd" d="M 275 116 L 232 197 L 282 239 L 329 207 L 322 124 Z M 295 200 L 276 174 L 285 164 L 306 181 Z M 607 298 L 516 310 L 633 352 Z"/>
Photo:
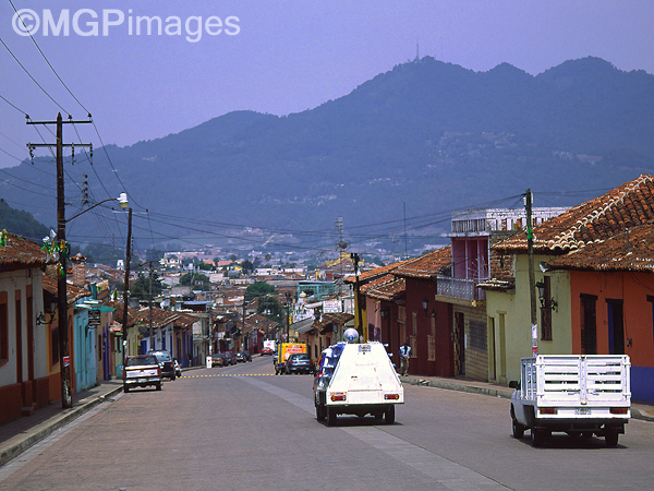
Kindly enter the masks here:
<path id="1" fill-rule="evenodd" d="M 329 426 L 336 424 L 337 415 L 373 415 L 392 424 L 404 390 L 383 344 L 338 343 L 323 351 L 314 403 L 317 420 L 327 418 Z"/>

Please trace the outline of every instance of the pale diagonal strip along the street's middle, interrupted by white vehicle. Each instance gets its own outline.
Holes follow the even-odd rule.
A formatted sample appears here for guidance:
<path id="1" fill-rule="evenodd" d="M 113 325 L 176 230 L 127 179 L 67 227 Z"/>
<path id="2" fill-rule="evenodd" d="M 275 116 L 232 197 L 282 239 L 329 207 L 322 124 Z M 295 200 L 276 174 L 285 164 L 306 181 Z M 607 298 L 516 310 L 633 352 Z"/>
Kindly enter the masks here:
<path id="1" fill-rule="evenodd" d="M 276 385 L 263 382 L 261 379 L 243 379 L 245 382 L 256 387 L 269 392 L 282 399 L 291 403 L 310 414 L 315 412 L 313 400 L 308 397 L 298 395 L 293 392 L 280 388 Z M 434 479 L 440 486 L 452 491 L 468 490 L 506 490 L 506 486 L 488 479 L 487 477 L 475 472 L 460 464 L 448 460 L 440 455 L 421 448 L 413 443 L 393 436 L 378 428 L 337 428 L 346 433 L 367 443 L 374 448 L 384 452 L 386 455 L 405 464 L 413 469 Z"/>

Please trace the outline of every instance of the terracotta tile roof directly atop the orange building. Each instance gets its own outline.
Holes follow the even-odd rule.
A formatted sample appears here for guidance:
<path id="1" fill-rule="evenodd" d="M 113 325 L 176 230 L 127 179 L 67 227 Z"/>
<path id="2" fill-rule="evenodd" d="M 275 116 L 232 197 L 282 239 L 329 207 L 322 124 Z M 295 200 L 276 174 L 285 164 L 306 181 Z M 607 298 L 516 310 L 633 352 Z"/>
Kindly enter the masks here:
<path id="1" fill-rule="evenodd" d="M 553 270 L 654 272 L 654 223 L 589 243 L 547 265 Z"/>

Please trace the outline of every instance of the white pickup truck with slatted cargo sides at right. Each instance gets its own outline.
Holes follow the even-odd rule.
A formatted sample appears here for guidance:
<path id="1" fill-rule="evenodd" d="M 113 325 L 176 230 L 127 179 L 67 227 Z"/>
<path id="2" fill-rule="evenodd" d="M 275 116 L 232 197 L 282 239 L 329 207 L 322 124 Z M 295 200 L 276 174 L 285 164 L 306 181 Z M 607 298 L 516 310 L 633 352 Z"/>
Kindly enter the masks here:
<path id="1" fill-rule="evenodd" d="M 631 362 L 627 355 L 538 355 L 521 360 L 521 381 L 511 381 L 513 436 L 531 431 L 541 446 L 554 431 L 604 436 L 618 444 L 631 417 Z"/>

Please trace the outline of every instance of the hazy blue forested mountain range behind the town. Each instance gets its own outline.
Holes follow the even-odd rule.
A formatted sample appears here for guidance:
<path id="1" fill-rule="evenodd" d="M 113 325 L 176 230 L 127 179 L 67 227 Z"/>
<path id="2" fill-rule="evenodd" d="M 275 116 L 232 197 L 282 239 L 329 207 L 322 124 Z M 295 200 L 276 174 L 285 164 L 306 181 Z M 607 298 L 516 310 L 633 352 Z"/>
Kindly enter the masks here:
<path id="1" fill-rule="evenodd" d="M 107 145 L 93 166 L 78 154 L 66 163 L 66 195 L 82 193 L 86 173 L 97 201 L 124 187 L 133 206 L 222 228 L 326 230 L 342 216 L 346 228 L 392 221 L 385 233 L 397 236 L 405 214 L 437 236 L 451 211 L 505 206 L 528 188 L 535 206 L 573 205 L 650 173 L 653 134 L 654 76 L 644 71 L 583 58 L 533 76 L 508 63 L 474 72 L 425 57 L 303 112 L 230 112 Z M 53 224 L 55 202 L 25 192 L 53 194 L 51 159 L 7 170 L 20 187 L 2 183 L 0 197 Z M 198 233 L 165 221 L 162 237 Z M 77 230 L 93 228 L 89 217 Z"/>

